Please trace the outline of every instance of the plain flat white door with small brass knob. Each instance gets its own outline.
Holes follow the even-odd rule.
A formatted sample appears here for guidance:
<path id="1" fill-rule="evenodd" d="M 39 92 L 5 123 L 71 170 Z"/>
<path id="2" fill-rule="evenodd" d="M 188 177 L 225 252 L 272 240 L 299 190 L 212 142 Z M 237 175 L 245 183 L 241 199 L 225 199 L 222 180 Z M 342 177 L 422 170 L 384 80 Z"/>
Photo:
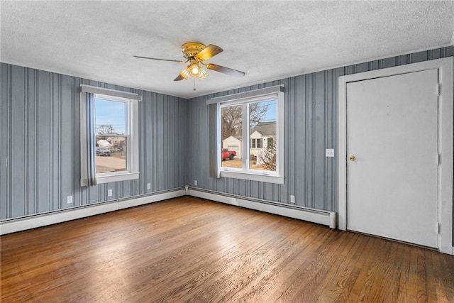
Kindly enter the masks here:
<path id="1" fill-rule="evenodd" d="M 347 84 L 349 230 L 438 247 L 437 83 L 426 70 Z"/>

